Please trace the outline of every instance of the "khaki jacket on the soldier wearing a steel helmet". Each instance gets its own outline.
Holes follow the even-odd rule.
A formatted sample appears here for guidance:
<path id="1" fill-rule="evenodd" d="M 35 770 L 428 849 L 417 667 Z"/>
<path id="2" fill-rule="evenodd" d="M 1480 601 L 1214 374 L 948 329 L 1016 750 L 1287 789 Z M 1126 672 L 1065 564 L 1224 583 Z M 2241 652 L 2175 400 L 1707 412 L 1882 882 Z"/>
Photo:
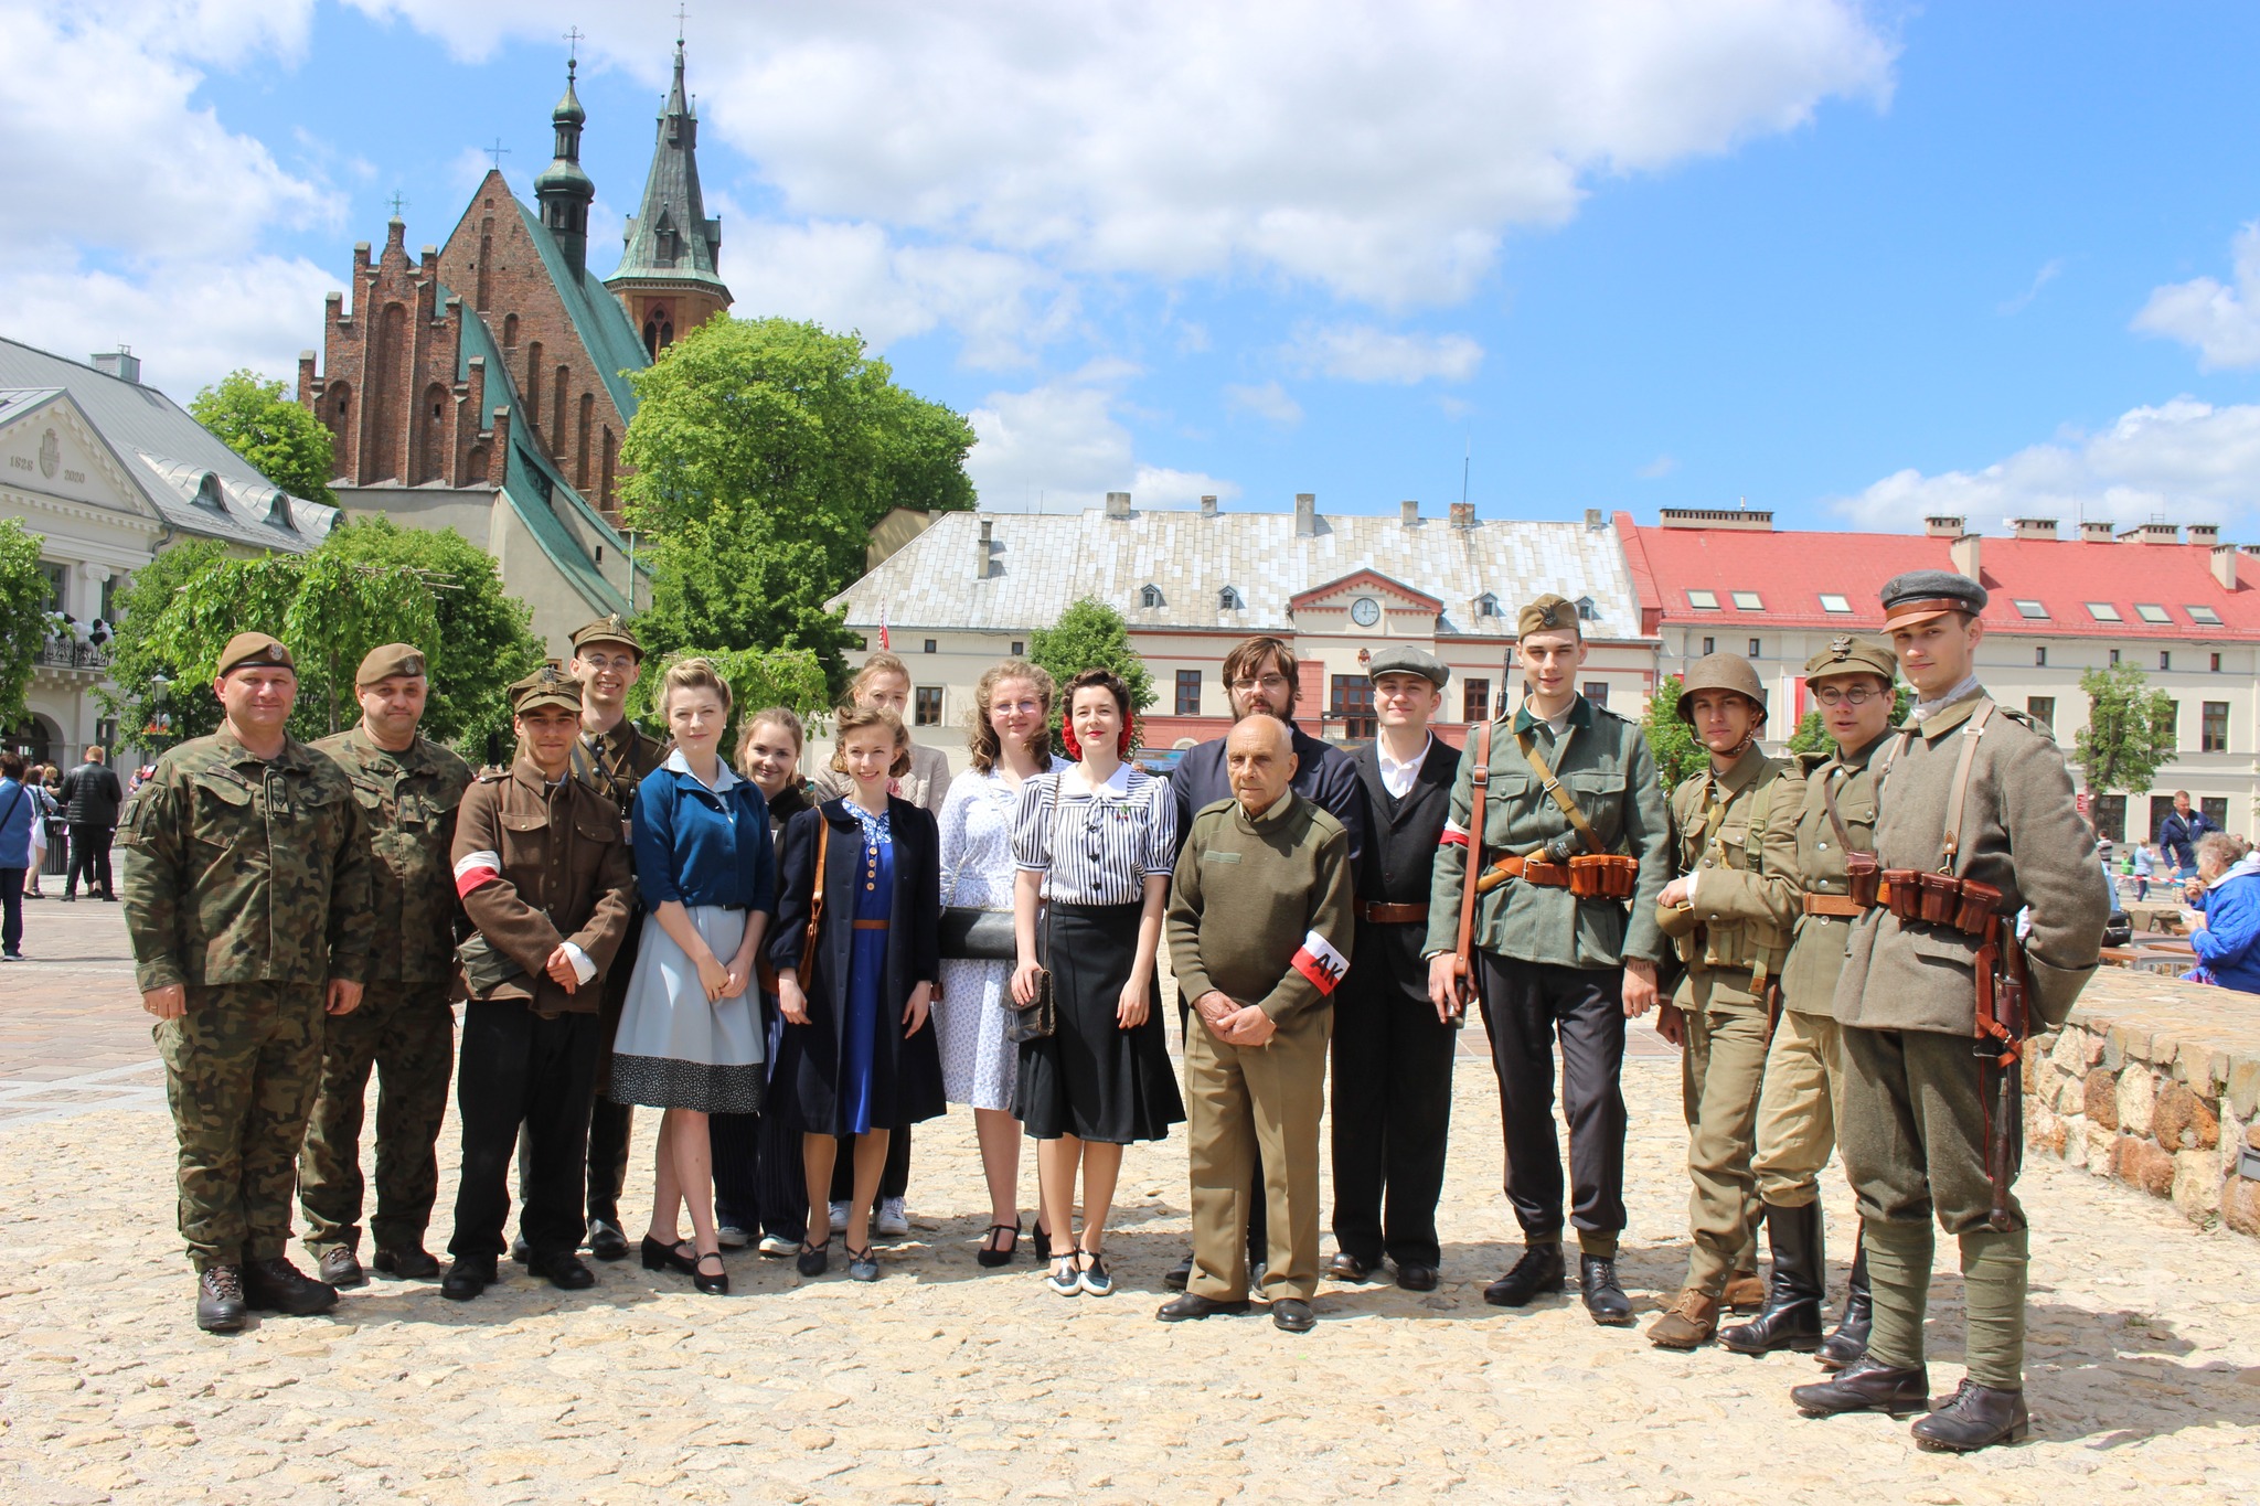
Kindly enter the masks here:
<path id="1" fill-rule="evenodd" d="M 1765 989 L 1781 980 L 1797 926 L 1797 808 L 1803 797 L 1803 770 L 1765 756 L 1756 743 L 1724 774 L 1704 770 L 1672 790 L 1672 856 L 1695 885 L 1686 905 L 1657 905 L 1657 928 L 1688 964 L 1672 1002 L 1684 1007 L 1693 998 L 1697 973 L 1731 971 L 1729 987 L 1711 991 L 1711 1007 L 1765 1007 Z"/>

